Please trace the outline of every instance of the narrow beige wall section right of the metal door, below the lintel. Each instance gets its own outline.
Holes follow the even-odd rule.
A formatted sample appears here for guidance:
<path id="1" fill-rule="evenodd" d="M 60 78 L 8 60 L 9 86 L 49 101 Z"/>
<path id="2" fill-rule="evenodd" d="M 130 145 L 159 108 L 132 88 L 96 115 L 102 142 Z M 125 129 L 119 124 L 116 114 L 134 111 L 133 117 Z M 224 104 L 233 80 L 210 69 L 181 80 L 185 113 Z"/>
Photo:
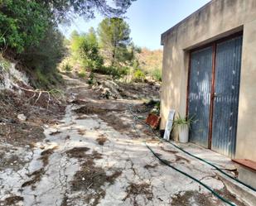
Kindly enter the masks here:
<path id="1" fill-rule="evenodd" d="M 242 58 L 236 156 L 256 161 L 256 19 L 244 25 Z"/>

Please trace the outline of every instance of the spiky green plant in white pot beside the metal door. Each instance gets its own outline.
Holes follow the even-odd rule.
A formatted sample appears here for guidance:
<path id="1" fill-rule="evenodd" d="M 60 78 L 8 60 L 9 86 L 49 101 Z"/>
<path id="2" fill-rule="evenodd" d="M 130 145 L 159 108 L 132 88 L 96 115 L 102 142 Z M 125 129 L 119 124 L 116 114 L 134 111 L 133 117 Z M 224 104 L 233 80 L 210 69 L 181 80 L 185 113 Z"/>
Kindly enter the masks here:
<path id="1" fill-rule="evenodd" d="M 189 129 L 191 127 L 192 117 L 181 117 L 180 113 L 177 113 L 175 120 L 173 121 L 174 127 L 176 127 L 179 133 L 179 141 L 186 143 L 188 141 Z"/>

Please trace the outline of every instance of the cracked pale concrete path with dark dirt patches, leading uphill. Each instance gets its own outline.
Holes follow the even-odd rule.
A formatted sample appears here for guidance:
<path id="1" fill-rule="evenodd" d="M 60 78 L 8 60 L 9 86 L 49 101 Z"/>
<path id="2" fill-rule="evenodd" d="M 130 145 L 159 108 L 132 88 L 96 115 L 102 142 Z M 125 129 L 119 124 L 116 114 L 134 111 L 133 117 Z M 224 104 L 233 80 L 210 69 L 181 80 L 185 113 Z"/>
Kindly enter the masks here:
<path id="1" fill-rule="evenodd" d="M 0 205 L 225 205 L 196 182 L 161 165 L 144 144 L 237 205 L 215 170 L 152 138 L 130 113 L 139 100 L 99 99 L 89 85 L 65 77 L 65 117 L 44 127 L 32 150 L 12 147 L 21 167 L 0 171 Z M 14 164 L 14 163 L 13 163 Z"/>

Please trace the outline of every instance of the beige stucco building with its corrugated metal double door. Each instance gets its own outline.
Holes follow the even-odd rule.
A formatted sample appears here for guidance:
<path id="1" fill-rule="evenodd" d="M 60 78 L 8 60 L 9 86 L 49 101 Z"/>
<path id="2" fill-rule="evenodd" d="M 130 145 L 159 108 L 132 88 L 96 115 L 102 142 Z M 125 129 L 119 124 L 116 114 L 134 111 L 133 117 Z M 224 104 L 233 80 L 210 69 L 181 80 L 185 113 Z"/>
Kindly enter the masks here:
<path id="1" fill-rule="evenodd" d="M 256 0 L 212 0 L 162 34 L 161 128 L 195 115 L 190 141 L 256 161 Z"/>

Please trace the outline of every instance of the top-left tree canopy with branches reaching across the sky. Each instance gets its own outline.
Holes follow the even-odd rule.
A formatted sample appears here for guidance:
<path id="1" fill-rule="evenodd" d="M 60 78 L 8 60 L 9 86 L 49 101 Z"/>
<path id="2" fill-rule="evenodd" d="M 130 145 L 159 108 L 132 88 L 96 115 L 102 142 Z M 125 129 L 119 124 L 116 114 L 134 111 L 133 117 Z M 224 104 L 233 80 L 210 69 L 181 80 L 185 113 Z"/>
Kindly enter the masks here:
<path id="1" fill-rule="evenodd" d="M 0 36 L 9 48 L 21 53 L 27 46 L 37 46 L 49 26 L 69 20 L 74 15 L 93 18 L 99 11 L 106 16 L 119 16 L 133 0 L 0 0 Z M 2 42 L 0 42 L 0 48 Z"/>

